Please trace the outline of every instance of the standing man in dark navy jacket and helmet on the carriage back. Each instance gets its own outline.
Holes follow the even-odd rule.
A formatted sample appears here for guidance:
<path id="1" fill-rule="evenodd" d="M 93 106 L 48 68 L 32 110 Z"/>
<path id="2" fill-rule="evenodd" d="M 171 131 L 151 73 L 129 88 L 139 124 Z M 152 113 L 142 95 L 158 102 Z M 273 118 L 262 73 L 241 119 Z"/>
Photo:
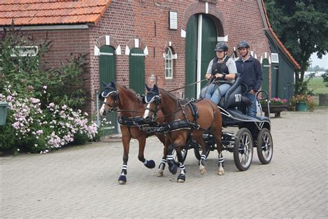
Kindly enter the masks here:
<path id="1" fill-rule="evenodd" d="M 247 107 L 248 116 L 256 116 L 256 98 L 255 94 L 262 85 L 262 67 L 259 60 L 248 54 L 250 46 L 246 40 L 242 40 L 237 45 L 241 57 L 236 61 L 237 72 L 241 73 L 244 84 L 248 91 L 246 96 L 250 99 L 250 105 Z"/>

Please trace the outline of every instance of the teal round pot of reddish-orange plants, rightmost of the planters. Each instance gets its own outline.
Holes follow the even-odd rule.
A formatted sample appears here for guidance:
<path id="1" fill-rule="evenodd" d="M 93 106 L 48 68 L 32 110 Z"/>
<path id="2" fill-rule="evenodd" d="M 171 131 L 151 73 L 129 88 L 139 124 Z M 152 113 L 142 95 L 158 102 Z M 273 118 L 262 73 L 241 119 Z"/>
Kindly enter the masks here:
<path id="1" fill-rule="evenodd" d="M 289 101 L 289 109 L 293 111 L 313 111 L 315 103 L 307 94 L 295 94 Z"/>

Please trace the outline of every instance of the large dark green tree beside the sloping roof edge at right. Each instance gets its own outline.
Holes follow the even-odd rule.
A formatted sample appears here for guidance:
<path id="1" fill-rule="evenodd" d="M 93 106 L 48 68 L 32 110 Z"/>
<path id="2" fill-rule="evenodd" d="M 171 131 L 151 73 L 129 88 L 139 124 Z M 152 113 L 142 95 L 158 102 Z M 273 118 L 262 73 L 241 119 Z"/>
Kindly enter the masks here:
<path id="1" fill-rule="evenodd" d="M 300 72 L 295 72 L 295 93 L 300 94 L 311 54 L 322 58 L 328 51 L 328 1 L 264 0 L 264 3 L 273 30 L 300 64 Z"/>

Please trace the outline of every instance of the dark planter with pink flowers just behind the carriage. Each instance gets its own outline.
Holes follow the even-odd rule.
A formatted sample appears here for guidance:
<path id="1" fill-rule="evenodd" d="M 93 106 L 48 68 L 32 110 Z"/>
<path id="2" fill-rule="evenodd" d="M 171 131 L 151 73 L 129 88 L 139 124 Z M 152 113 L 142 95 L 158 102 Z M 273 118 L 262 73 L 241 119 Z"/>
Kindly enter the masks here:
<path id="1" fill-rule="evenodd" d="M 270 100 L 261 100 L 259 101 L 262 107 L 262 111 L 264 112 L 265 116 L 268 117 L 268 103 L 270 107 L 270 113 L 274 113 L 275 117 L 280 117 L 280 112 L 286 110 L 287 107 L 287 100 L 281 99 L 278 97 L 271 98 Z"/>

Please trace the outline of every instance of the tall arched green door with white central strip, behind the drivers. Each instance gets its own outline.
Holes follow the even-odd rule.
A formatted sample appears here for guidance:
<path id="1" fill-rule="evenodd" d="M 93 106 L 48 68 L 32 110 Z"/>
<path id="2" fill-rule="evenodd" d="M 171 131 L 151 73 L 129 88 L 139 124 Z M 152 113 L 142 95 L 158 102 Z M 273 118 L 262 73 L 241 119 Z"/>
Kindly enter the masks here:
<path id="1" fill-rule="evenodd" d="M 200 21 L 201 25 L 199 25 Z M 200 31 L 199 28 L 201 28 Z M 205 78 L 208 64 L 215 57 L 216 44 L 217 28 L 212 19 L 206 15 L 192 15 L 188 21 L 185 39 L 185 85 Z M 201 51 L 198 51 L 199 47 Z M 200 87 L 204 85 L 206 81 L 202 82 Z M 185 87 L 185 98 L 197 97 L 197 85 Z"/>

